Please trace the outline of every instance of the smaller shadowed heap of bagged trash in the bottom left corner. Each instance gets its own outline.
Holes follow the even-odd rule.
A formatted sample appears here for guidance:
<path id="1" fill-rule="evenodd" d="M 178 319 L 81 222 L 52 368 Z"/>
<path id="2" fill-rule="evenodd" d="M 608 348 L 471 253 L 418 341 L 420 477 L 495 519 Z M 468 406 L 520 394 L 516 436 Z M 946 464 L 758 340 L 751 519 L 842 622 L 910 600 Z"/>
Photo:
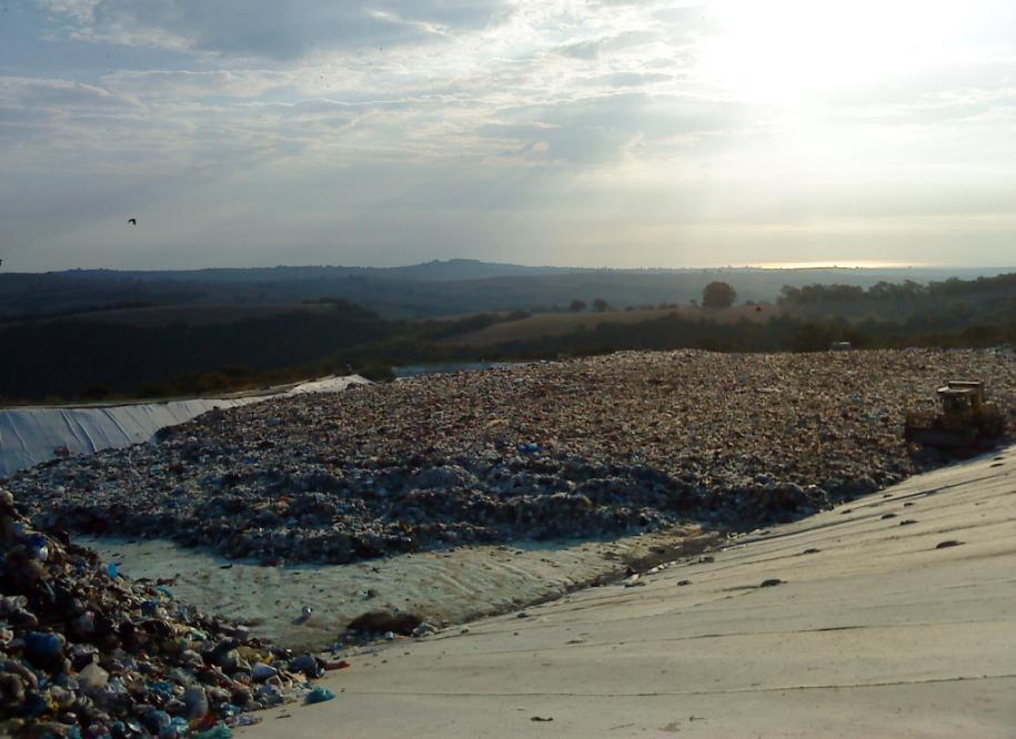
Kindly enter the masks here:
<path id="1" fill-rule="evenodd" d="M 248 711 L 313 694 L 293 656 L 32 530 L 0 488 L 0 736 L 230 736 Z"/>

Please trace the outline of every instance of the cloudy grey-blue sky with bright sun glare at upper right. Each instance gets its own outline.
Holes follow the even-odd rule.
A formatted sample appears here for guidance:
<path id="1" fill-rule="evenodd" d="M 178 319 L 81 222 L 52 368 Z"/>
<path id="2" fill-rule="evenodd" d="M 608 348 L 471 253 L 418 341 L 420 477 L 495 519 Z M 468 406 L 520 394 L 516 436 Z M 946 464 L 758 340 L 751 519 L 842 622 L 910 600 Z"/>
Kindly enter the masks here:
<path id="1" fill-rule="evenodd" d="M 1016 3 L 0 0 L 0 269 L 452 257 L 1016 264 Z"/>

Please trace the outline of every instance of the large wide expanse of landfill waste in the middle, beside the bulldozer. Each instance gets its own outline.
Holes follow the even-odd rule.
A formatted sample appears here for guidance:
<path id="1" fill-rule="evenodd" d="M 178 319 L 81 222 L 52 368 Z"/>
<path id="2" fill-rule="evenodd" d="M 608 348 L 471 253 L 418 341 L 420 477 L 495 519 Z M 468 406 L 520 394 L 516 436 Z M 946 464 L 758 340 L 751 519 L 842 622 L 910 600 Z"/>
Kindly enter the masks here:
<path id="1" fill-rule="evenodd" d="M 211 412 L 8 486 L 46 530 L 268 564 L 754 528 L 939 464 L 902 432 L 944 377 L 1016 408 L 1016 362 L 994 352 L 626 352 Z"/>

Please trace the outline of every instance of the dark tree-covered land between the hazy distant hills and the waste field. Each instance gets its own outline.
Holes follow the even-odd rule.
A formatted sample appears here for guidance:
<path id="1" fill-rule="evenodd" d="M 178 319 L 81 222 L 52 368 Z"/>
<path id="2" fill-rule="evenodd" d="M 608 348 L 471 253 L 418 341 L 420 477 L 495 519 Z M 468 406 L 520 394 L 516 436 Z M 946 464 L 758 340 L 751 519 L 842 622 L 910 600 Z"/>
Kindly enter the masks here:
<path id="1" fill-rule="evenodd" d="M 715 286 L 714 286 L 715 285 Z M 726 283 L 703 291 L 703 306 L 736 298 Z M 320 301 L 314 301 L 315 303 Z M 374 378 L 391 366 L 427 362 L 554 358 L 618 350 L 703 348 L 726 352 L 993 346 L 1016 343 L 1016 275 L 868 290 L 844 285 L 785 288 L 778 315 L 721 322 L 673 308 L 641 322 L 608 316 L 563 336 L 495 346 L 457 345 L 455 336 L 529 313 L 482 313 L 453 320 L 391 321 L 344 300 L 328 310 L 293 310 L 233 323 L 134 326 L 85 318 L 27 321 L 0 327 L 0 399 L 103 399 L 239 389 L 356 371 Z M 891 306 L 892 310 L 846 311 Z M 901 310 L 901 305 L 911 306 Z M 595 307 L 595 306 L 594 306 Z"/>

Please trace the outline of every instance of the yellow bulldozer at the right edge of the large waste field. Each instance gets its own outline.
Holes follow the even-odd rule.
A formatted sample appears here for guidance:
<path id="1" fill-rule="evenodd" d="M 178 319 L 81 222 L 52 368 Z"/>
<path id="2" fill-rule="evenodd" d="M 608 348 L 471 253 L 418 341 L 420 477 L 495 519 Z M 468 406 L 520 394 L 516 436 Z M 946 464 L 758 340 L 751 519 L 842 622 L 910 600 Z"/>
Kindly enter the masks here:
<path id="1" fill-rule="evenodd" d="M 908 443 L 962 455 L 992 448 L 1005 436 L 1005 414 L 984 399 L 980 382 L 950 379 L 937 393 L 938 414 L 907 414 L 903 436 Z"/>

